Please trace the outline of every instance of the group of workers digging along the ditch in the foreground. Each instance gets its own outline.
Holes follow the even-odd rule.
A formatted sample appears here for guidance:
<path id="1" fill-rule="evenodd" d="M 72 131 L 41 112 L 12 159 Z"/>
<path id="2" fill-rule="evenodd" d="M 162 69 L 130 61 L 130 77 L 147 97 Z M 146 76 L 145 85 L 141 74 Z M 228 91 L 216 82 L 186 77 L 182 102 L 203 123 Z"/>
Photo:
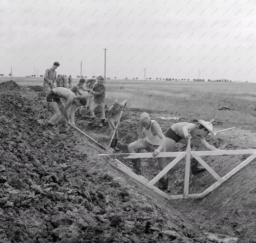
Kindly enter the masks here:
<path id="1" fill-rule="evenodd" d="M 97 79 L 80 79 L 79 82 L 71 85 L 70 89 L 65 87 L 54 87 L 54 81 L 56 80 L 56 68 L 59 67 L 59 63 L 55 62 L 52 68 L 46 70 L 44 77 L 44 87 L 48 94 L 46 100 L 53 111 L 54 115 L 48 121 L 46 126 L 46 132 L 53 135 L 51 128 L 55 122 L 59 119 L 60 127 L 59 133 L 66 133 L 66 122 L 75 126 L 75 109 L 77 106 L 90 107 L 91 119 L 88 124 L 95 122 L 94 110 L 97 106 L 100 106 L 101 110 L 101 124 L 100 127 L 104 126 L 105 121 L 105 92 L 106 87 L 104 85 L 104 77 L 99 76 Z M 84 87 L 86 84 L 86 87 Z M 86 96 L 82 91 L 87 91 L 89 94 Z M 66 100 L 66 104 L 60 99 Z M 118 143 L 118 120 L 119 115 L 123 108 L 126 106 L 127 100 L 122 103 L 116 99 L 108 109 L 108 125 L 110 128 L 110 138 L 113 137 L 111 148 L 115 151 L 119 151 L 117 147 Z M 68 116 L 68 108 L 71 106 L 70 117 Z M 190 122 L 178 122 L 173 124 L 166 131 L 166 135 L 163 134 L 158 122 L 152 120 L 150 115 L 146 112 L 142 113 L 139 117 L 140 128 L 139 128 L 139 139 L 128 145 L 129 153 L 136 153 L 137 149 L 146 149 L 148 152 L 153 153 L 153 157 L 157 156 L 160 152 L 173 152 L 177 142 L 187 144 L 187 140 L 191 139 L 191 145 L 196 146 L 196 151 L 202 151 L 204 147 L 208 150 L 219 150 L 214 146 L 208 144 L 205 137 L 212 133 L 216 135 L 216 131 L 213 128 L 212 121 L 198 120 L 199 125 Z M 146 137 L 141 138 L 143 133 Z M 159 168 L 163 170 L 168 164 L 167 158 L 157 158 Z M 139 158 L 132 159 L 133 172 L 137 175 L 141 175 L 141 162 Z M 191 159 L 191 172 L 195 175 L 205 168 L 199 167 L 199 163 L 196 159 Z M 168 191 L 168 177 L 165 174 L 158 183 L 159 189 Z"/>

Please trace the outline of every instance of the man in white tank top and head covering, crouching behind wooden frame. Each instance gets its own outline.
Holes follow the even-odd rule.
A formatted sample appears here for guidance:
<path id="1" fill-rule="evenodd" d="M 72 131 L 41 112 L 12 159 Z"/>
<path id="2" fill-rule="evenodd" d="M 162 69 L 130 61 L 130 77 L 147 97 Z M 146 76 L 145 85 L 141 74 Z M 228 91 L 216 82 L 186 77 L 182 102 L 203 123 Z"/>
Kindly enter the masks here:
<path id="1" fill-rule="evenodd" d="M 129 153 L 136 153 L 136 149 L 146 149 L 148 152 L 153 152 L 153 157 L 155 157 L 160 152 L 165 151 L 165 135 L 163 135 L 160 125 L 156 121 L 151 120 L 146 112 L 141 114 L 140 121 L 139 140 L 128 145 Z M 140 139 L 143 132 L 146 134 L 146 137 Z M 157 158 L 157 162 L 161 170 L 166 167 L 165 158 Z M 137 175 L 141 175 L 141 162 L 139 158 L 132 159 L 132 163 L 132 171 Z M 159 180 L 158 187 L 163 191 L 168 189 L 168 178 L 166 174 Z"/>

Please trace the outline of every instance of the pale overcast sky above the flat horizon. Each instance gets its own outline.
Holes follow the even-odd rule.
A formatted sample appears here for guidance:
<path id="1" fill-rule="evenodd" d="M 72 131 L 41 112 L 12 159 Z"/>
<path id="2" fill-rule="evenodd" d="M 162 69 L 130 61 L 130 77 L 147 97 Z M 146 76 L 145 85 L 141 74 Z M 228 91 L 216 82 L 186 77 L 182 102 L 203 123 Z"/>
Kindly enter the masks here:
<path id="1" fill-rule="evenodd" d="M 0 0 L 0 74 L 255 78 L 255 0 Z"/>

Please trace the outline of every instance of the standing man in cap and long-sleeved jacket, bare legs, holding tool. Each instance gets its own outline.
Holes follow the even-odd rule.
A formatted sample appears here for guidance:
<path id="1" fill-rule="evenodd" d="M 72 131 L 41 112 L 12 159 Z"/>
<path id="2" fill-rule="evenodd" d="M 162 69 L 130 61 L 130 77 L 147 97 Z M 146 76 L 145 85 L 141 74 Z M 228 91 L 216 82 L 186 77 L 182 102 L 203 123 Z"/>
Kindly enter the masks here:
<path id="1" fill-rule="evenodd" d="M 93 111 L 99 105 L 101 109 L 101 124 L 99 124 L 99 127 L 102 127 L 104 126 L 104 121 L 105 121 L 106 87 L 104 86 L 104 77 L 100 76 L 98 78 L 98 83 L 90 90 L 90 92 L 94 94 L 94 98 L 90 106 L 91 120 L 88 122 L 88 124 L 92 124 L 93 122 L 95 122 L 95 114 Z"/>

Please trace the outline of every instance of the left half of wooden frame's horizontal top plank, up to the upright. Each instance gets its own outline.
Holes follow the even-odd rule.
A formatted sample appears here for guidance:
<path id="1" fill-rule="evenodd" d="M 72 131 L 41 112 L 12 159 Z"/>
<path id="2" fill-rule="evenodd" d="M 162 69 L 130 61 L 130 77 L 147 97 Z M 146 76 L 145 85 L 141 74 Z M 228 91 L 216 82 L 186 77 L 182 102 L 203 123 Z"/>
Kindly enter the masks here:
<path id="1" fill-rule="evenodd" d="M 108 154 L 111 158 L 117 159 L 130 159 L 130 158 L 165 158 L 165 157 L 177 157 L 181 154 L 186 154 L 186 152 L 161 152 L 159 155 L 153 157 L 153 153 L 113 153 Z M 99 156 L 104 156 L 106 154 L 99 154 Z"/>

